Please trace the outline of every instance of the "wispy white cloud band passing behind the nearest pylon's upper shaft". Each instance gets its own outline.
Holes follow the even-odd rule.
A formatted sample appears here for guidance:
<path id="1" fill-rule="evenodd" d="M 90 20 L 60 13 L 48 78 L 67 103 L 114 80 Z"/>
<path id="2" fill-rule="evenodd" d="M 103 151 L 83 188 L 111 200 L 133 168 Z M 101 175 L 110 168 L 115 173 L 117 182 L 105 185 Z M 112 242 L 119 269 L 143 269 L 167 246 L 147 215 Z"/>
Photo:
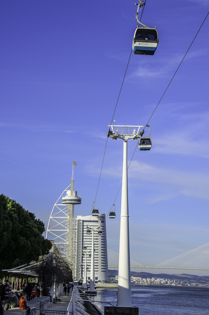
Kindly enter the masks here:
<path id="1" fill-rule="evenodd" d="M 88 165 L 86 172 L 91 176 L 98 176 L 100 169 L 95 168 L 95 165 Z M 102 170 L 102 176 L 109 178 L 119 179 L 121 174 L 122 165 L 103 168 Z M 131 185 L 131 179 L 134 179 L 135 186 L 143 181 L 158 183 L 159 187 L 162 187 L 160 188 L 162 193 L 159 192 L 158 195 L 153 195 L 149 199 L 149 203 L 168 200 L 177 195 L 209 199 L 209 176 L 207 174 L 155 167 L 151 164 L 132 161 L 128 170 L 128 176 L 129 185 Z M 168 189 L 166 192 L 164 186 Z"/>

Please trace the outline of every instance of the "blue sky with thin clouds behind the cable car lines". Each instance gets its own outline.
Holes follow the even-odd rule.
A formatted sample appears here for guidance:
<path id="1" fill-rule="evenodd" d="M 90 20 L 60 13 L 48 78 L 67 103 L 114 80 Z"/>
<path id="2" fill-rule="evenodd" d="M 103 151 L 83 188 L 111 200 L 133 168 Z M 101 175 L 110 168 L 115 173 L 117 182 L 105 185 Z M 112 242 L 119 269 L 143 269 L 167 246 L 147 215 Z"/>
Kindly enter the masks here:
<path id="1" fill-rule="evenodd" d="M 0 8 L 1 193 L 47 226 L 74 160 L 82 196 L 75 215 L 88 215 L 137 7 L 127 0 L 3 0 Z M 147 0 L 141 21 L 157 26 L 158 48 L 154 56 L 131 54 L 115 124 L 146 125 L 208 11 L 208 0 Z M 208 243 L 208 19 L 150 120 L 152 149 L 137 149 L 129 168 L 131 259 L 146 266 Z M 135 146 L 128 141 L 129 161 Z M 109 212 L 121 185 L 122 150 L 122 140 L 108 139 L 100 213 Z M 116 252 L 120 202 L 119 193 L 117 217 L 106 222 Z"/>

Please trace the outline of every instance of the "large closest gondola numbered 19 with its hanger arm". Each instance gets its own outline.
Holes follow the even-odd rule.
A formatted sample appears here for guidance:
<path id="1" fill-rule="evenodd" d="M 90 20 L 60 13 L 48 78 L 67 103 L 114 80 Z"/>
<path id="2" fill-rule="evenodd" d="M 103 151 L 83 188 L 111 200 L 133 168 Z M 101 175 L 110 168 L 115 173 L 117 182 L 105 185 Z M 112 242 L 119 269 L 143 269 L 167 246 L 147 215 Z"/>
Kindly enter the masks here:
<path id="1" fill-rule="evenodd" d="M 142 25 L 143 27 L 139 27 L 139 25 L 137 25 L 137 29 L 134 33 L 132 41 L 132 49 L 134 54 L 153 55 L 158 46 L 158 31 L 156 29 L 156 26 L 155 28 L 150 28 L 142 24 L 138 20 L 138 12 L 142 5 L 144 5 L 143 1 L 139 1 L 136 13 L 136 21 L 139 25 Z"/>

